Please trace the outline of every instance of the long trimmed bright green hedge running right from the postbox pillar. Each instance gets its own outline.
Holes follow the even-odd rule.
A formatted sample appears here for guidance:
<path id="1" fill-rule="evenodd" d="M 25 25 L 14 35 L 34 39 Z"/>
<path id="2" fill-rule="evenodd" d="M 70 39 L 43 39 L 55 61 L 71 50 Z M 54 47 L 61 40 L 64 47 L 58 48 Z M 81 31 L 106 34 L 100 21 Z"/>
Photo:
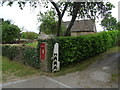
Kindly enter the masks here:
<path id="1" fill-rule="evenodd" d="M 51 62 L 53 46 L 55 42 L 59 43 L 59 60 L 61 66 L 73 62 L 80 62 L 91 56 L 100 54 L 112 46 L 116 45 L 118 31 L 100 32 L 90 35 L 59 37 L 55 39 L 44 40 L 48 43 L 48 59 Z M 39 41 L 39 44 L 42 41 Z"/>

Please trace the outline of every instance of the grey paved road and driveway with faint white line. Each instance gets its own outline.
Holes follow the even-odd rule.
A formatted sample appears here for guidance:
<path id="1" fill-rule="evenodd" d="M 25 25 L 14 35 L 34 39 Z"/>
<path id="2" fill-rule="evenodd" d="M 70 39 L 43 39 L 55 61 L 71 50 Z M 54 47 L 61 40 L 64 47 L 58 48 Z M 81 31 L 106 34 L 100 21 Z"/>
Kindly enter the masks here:
<path id="1" fill-rule="evenodd" d="M 2 88 L 118 88 L 118 82 L 110 80 L 118 73 L 120 52 L 97 60 L 86 70 L 58 77 L 39 76 L 31 79 L 6 83 Z"/>

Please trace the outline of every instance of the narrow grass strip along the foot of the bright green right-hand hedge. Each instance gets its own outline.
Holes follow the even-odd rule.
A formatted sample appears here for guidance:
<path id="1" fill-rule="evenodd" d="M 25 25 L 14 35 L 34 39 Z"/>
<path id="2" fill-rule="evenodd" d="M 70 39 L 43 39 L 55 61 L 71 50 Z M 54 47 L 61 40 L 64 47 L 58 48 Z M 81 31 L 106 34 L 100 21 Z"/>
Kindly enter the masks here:
<path id="1" fill-rule="evenodd" d="M 95 61 L 100 60 L 102 58 L 105 58 L 107 55 L 115 53 L 118 50 L 120 51 L 120 47 L 118 47 L 118 46 L 113 47 L 113 48 L 109 49 L 108 51 L 106 51 L 106 52 L 104 52 L 102 54 L 99 54 L 97 56 L 86 59 L 86 60 L 84 60 L 84 61 L 82 61 L 80 63 L 73 63 L 73 64 L 70 64 L 70 65 L 68 65 L 66 67 L 63 67 L 63 68 L 60 69 L 59 72 L 45 73 L 45 75 L 48 75 L 48 76 L 60 76 L 60 75 L 65 75 L 65 74 L 76 72 L 76 71 L 82 71 L 82 70 L 86 69 L 88 66 L 90 66 L 92 63 L 94 63 Z"/>

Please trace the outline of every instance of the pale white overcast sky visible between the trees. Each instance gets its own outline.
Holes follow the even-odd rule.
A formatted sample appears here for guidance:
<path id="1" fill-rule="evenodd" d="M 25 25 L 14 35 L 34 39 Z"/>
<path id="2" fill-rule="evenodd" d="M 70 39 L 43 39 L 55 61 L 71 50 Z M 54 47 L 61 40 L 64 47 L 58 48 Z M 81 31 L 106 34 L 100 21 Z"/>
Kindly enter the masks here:
<path id="1" fill-rule="evenodd" d="M 118 2 L 120 0 L 108 0 L 114 4 L 115 8 L 112 10 L 112 16 L 118 20 Z M 119 3 L 120 4 L 120 3 Z M 120 7 L 120 6 L 119 6 Z M 25 8 L 21 10 L 18 4 L 14 3 L 12 7 L 4 5 L 0 6 L 0 18 L 5 20 L 12 20 L 15 25 L 18 25 L 20 28 L 24 27 L 24 31 L 33 31 L 39 33 L 38 26 L 40 23 L 37 21 L 37 15 L 39 11 L 46 11 L 46 9 L 37 7 L 36 9 L 31 8 L 26 4 Z M 120 15 L 120 14 L 119 14 Z M 67 16 L 63 17 L 63 21 L 70 20 Z M 120 20 L 120 19 L 119 19 Z M 96 23 L 97 31 L 102 31 L 103 28 L 99 25 L 100 20 Z"/>

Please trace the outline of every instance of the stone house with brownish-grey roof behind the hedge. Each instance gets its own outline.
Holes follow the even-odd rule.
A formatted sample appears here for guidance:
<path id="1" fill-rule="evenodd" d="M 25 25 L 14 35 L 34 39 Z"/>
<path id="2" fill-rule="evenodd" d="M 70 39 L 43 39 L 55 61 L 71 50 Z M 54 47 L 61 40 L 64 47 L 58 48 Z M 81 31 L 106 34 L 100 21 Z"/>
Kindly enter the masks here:
<path id="1" fill-rule="evenodd" d="M 68 27 L 70 21 L 63 22 Z M 76 20 L 71 28 L 71 36 L 96 33 L 96 25 L 92 20 Z"/>

